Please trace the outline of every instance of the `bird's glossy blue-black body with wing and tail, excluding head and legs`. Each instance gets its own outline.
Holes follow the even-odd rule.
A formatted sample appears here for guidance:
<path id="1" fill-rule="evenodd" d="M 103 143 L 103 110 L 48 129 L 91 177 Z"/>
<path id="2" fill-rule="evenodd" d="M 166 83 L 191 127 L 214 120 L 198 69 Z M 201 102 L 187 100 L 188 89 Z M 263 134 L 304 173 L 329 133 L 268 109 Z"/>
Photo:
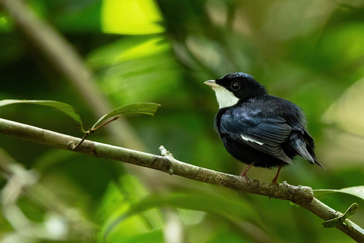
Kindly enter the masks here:
<path id="1" fill-rule="evenodd" d="M 285 99 L 273 95 L 261 95 L 240 101 L 232 107 L 220 109 L 215 117 L 214 125 L 228 152 L 247 164 L 257 160 L 257 166 L 271 168 L 279 166 L 282 161 L 289 163 L 289 158 L 292 160 L 296 155 L 301 155 L 310 163 L 321 165 L 314 153 L 314 140 L 306 128 L 305 115 L 300 107 Z M 289 132 L 287 133 L 286 128 L 274 133 L 275 126 L 278 125 L 282 126 L 282 129 L 283 126 L 288 125 Z M 260 143 L 252 139 L 256 137 L 254 133 L 262 133 L 261 130 L 266 130 L 264 132 L 269 133 L 268 135 L 273 139 L 276 149 L 274 153 L 270 153 L 270 150 L 267 153 L 266 148 L 263 148 L 269 144 L 265 142 L 266 140 L 260 140 Z M 232 135 L 240 134 L 238 132 L 244 134 L 242 135 L 244 140 L 236 139 L 236 135 Z M 280 133 L 286 133 L 286 137 L 280 136 Z M 281 138 L 274 140 L 275 136 Z M 280 154 L 277 146 L 283 154 Z"/>

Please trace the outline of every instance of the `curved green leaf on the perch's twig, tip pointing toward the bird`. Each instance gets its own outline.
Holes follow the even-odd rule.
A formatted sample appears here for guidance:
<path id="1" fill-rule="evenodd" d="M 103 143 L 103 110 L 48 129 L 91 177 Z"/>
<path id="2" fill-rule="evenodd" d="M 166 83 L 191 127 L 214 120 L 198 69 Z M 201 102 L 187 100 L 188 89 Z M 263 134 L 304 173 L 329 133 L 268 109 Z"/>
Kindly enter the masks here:
<path id="1" fill-rule="evenodd" d="M 114 110 L 110 111 L 109 113 L 103 115 L 93 126 L 91 129 L 96 128 L 97 126 L 101 125 L 103 121 L 110 117 L 115 117 L 116 115 L 127 113 L 127 112 L 136 112 L 136 113 L 143 113 L 147 115 L 154 115 L 157 111 L 158 107 L 161 106 L 156 103 L 134 103 L 130 105 L 123 105 Z"/>

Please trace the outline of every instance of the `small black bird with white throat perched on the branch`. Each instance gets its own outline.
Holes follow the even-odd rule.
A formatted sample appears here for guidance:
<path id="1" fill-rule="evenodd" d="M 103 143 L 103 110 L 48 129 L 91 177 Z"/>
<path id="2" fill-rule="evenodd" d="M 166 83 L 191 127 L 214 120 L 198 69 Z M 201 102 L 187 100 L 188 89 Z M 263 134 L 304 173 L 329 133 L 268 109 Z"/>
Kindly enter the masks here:
<path id="1" fill-rule="evenodd" d="M 296 104 L 268 94 L 252 75 L 234 72 L 208 80 L 219 105 L 214 129 L 227 152 L 248 164 L 240 176 L 249 184 L 246 172 L 252 167 L 278 167 L 272 183 L 278 185 L 282 166 L 302 156 L 311 164 L 318 162 L 314 139 L 308 132 L 303 110 Z"/>

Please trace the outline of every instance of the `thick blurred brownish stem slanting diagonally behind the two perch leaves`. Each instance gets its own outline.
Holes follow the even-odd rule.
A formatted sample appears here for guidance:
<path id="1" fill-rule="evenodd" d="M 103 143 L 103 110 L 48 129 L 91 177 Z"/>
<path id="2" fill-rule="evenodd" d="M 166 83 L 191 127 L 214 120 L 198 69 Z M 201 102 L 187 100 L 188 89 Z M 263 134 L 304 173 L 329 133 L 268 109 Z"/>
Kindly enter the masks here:
<path id="1" fill-rule="evenodd" d="M 16 27 L 39 50 L 56 70 L 64 75 L 90 106 L 96 118 L 112 110 L 112 106 L 98 87 L 93 72 L 83 63 L 82 56 L 58 31 L 35 13 L 22 0 L 0 0 Z M 107 126 L 110 137 L 121 146 L 144 149 L 134 129 L 124 118 Z"/>

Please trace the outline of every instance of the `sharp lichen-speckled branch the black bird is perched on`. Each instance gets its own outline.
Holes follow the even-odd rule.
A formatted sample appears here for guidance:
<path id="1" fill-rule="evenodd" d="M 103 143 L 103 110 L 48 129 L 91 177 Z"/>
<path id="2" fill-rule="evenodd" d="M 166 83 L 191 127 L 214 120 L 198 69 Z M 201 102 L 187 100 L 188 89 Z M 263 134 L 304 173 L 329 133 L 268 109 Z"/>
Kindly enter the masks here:
<path id="1" fill-rule="evenodd" d="M 70 151 L 72 150 L 72 146 L 80 141 L 80 138 L 1 118 L 0 133 Z M 240 176 L 229 175 L 187 164 L 174 159 L 164 148 L 161 148 L 161 151 L 165 156 L 85 140 L 75 152 L 144 166 L 241 192 L 289 200 L 314 213 L 323 220 L 330 220 L 342 215 L 342 213 L 335 211 L 313 197 L 313 190 L 310 187 L 301 185 L 293 186 L 285 181 L 276 186 L 272 183 L 258 180 L 250 180 L 248 185 L 246 180 Z M 336 228 L 357 242 L 364 242 L 364 230 L 350 220 L 345 221 L 345 224 L 342 223 L 336 226 Z"/>

